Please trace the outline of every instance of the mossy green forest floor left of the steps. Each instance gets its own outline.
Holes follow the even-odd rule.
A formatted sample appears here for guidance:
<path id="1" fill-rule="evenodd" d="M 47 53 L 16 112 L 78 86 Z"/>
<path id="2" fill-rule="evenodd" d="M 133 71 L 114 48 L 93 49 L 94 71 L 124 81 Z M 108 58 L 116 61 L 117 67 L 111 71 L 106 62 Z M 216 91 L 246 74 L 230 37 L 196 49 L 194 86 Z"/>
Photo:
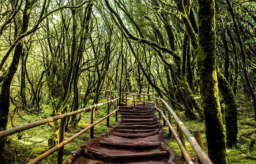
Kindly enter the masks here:
<path id="1" fill-rule="evenodd" d="M 90 100 L 88 102 L 87 106 L 90 106 L 93 100 Z M 106 99 L 100 99 L 99 102 L 105 102 Z M 81 108 L 81 107 L 80 107 Z M 15 114 L 13 118 L 13 124 L 14 126 L 19 126 L 23 124 L 27 124 L 29 122 L 38 121 L 41 119 L 44 119 L 42 117 L 51 117 L 51 111 L 52 107 L 51 105 L 45 105 L 42 112 L 41 117 L 35 118 L 34 116 L 31 116 L 23 111 L 19 111 L 19 115 Z M 110 107 L 110 112 L 113 111 L 113 105 Z M 11 110 L 10 113 L 13 111 Z M 83 112 L 83 117 L 79 121 L 79 124 L 76 128 L 69 127 L 68 131 L 65 132 L 65 138 L 67 139 L 74 134 L 80 132 L 80 130 L 86 128 L 90 125 L 90 116 L 91 112 L 90 110 Z M 94 120 L 99 120 L 100 118 L 106 116 L 106 105 L 100 106 L 95 110 L 95 118 Z M 120 118 L 120 115 L 118 114 L 118 118 Z M 118 124 L 115 122 L 114 115 L 110 116 L 109 119 L 110 126 L 114 126 Z M 10 127 L 11 127 L 11 123 Z M 25 130 L 21 132 L 22 138 L 18 139 L 19 133 L 13 134 L 8 137 L 8 147 L 5 149 L 4 157 L 3 159 L 0 159 L 0 163 L 12 163 L 12 164 L 23 164 L 26 163 L 28 159 L 34 159 L 41 155 L 42 153 L 48 151 L 50 148 L 48 147 L 48 136 L 51 133 L 50 126 L 53 126 L 53 122 L 50 122 L 47 126 L 40 126 L 35 127 L 32 129 Z M 109 128 L 106 127 L 106 120 L 100 122 L 99 124 L 95 125 L 94 127 L 94 136 L 97 137 L 102 133 L 109 133 Z M 90 130 L 83 133 L 81 136 L 76 138 L 75 140 L 71 141 L 69 144 L 64 146 L 64 156 L 63 159 L 65 159 L 68 155 L 74 155 L 75 149 L 80 147 L 84 142 L 88 141 L 90 139 Z M 41 161 L 41 164 L 52 164 L 57 163 L 57 154 L 58 152 L 54 152 L 52 155 L 48 156 L 46 159 Z"/>

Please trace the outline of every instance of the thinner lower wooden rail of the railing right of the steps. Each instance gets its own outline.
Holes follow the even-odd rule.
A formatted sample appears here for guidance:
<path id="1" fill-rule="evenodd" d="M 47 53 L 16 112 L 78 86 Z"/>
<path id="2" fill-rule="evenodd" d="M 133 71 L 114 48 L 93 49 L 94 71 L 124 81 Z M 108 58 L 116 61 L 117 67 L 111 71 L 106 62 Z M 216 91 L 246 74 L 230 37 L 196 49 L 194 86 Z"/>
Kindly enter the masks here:
<path id="1" fill-rule="evenodd" d="M 169 120 L 167 120 L 167 118 L 165 117 L 165 114 L 162 112 L 162 110 L 160 110 L 159 108 L 157 108 L 157 104 L 155 104 L 155 109 L 157 109 L 163 116 L 163 118 L 165 119 L 167 125 L 169 126 L 171 132 L 173 133 L 174 138 L 176 139 L 176 141 L 178 142 L 178 145 L 181 149 L 181 153 L 184 156 L 184 159 L 187 161 L 188 164 L 193 164 L 192 160 L 190 159 L 186 148 L 184 147 L 184 145 L 182 144 L 178 134 L 175 132 L 175 130 L 173 129 L 172 125 L 170 124 Z"/>

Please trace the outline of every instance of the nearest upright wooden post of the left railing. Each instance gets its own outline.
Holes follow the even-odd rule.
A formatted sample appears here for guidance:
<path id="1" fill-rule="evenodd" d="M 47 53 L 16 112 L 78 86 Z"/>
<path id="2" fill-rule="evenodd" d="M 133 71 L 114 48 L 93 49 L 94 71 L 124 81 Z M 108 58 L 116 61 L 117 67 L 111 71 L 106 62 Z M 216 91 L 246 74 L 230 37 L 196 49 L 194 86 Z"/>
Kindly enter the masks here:
<path id="1" fill-rule="evenodd" d="M 61 114 L 66 113 L 66 111 L 61 111 Z M 60 120 L 60 131 L 59 131 L 59 143 L 62 142 L 64 140 L 64 136 L 65 136 L 65 120 L 66 118 L 62 118 Z M 58 151 L 58 164 L 62 164 L 63 162 L 63 150 L 64 150 L 64 146 L 61 147 Z"/>

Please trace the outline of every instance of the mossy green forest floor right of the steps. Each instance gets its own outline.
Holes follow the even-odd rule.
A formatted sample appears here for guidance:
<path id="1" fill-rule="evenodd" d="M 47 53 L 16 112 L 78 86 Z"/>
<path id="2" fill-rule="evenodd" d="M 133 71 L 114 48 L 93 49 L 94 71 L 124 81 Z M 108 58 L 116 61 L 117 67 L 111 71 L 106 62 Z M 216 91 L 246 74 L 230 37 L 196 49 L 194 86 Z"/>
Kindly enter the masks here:
<path id="1" fill-rule="evenodd" d="M 238 104 L 238 133 L 239 139 L 236 144 L 236 147 L 233 149 L 227 149 L 227 157 L 229 162 L 232 164 L 256 164 L 256 142 L 251 145 L 250 151 L 248 152 L 248 144 L 249 141 L 253 138 L 256 138 L 256 124 L 253 118 L 253 109 L 252 109 L 252 102 L 247 102 L 246 98 L 244 97 L 237 97 L 237 104 Z M 224 105 L 223 105 L 224 106 Z M 207 142 L 204 130 L 204 124 L 200 121 L 191 121 L 185 118 L 184 112 L 181 112 L 181 118 L 184 125 L 187 127 L 188 130 L 199 129 L 202 132 L 202 138 L 204 143 L 204 148 L 207 153 Z M 223 119 L 224 120 L 224 119 Z M 161 120 L 161 125 L 162 125 Z M 174 120 L 172 120 L 173 128 L 177 130 L 177 126 Z M 224 122 L 224 130 L 226 132 L 226 125 Z M 175 139 L 169 138 L 168 133 L 169 130 L 167 126 L 163 127 L 162 129 L 163 136 L 165 138 L 165 145 L 168 148 L 172 149 L 178 164 L 185 164 L 185 160 L 182 159 L 180 148 Z M 186 141 L 186 149 L 191 157 L 192 161 L 197 164 L 198 159 L 193 151 L 191 145 L 189 144 L 187 138 L 185 137 Z"/>

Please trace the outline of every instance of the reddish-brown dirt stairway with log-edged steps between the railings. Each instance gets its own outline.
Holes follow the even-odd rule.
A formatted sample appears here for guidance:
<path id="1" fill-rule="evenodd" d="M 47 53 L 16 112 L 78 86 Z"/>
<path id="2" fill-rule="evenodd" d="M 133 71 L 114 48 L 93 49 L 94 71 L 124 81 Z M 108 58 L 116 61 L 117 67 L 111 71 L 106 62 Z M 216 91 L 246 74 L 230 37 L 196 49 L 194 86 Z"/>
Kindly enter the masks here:
<path id="1" fill-rule="evenodd" d="M 157 118 L 151 108 L 119 106 L 121 124 L 110 136 L 86 143 L 72 164 L 174 164 L 174 155 L 163 147 Z"/>

